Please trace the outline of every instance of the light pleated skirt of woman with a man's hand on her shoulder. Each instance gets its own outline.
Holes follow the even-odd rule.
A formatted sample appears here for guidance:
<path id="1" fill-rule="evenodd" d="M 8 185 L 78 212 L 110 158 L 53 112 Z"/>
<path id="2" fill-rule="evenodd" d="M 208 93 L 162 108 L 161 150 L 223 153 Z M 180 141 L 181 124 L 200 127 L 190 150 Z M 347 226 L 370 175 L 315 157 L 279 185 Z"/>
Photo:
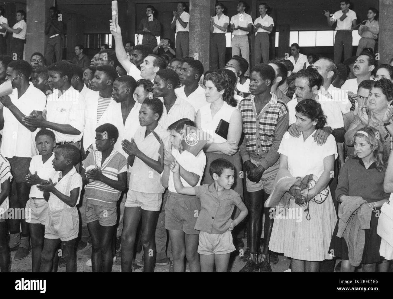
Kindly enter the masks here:
<path id="1" fill-rule="evenodd" d="M 337 216 L 329 187 L 327 189 L 329 195 L 323 203 L 310 201 L 310 220 L 306 218 L 306 207 L 296 204 L 293 198 L 285 213 L 271 212 L 270 217 L 275 218 L 269 242 L 271 251 L 302 261 L 332 259 L 329 245 Z"/>

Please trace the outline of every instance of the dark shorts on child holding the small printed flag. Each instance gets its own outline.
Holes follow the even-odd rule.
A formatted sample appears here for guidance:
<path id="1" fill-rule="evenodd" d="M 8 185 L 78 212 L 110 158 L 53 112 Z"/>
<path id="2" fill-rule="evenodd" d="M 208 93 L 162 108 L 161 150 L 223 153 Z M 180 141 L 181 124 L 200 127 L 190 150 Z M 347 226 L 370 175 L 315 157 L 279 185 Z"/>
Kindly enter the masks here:
<path id="1" fill-rule="evenodd" d="M 196 219 L 200 211 L 200 200 L 195 196 L 173 193 L 168 190 L 165 204 L 165 228 L 167 230 L 183 230 L 187 235 L 197 235 Z"/>

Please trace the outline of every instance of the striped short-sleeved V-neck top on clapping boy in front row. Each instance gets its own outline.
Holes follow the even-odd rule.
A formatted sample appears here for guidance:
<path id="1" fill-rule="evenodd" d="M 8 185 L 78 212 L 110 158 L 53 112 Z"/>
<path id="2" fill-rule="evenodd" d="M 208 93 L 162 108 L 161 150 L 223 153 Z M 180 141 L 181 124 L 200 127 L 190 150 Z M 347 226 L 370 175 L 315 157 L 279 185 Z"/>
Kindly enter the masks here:
<path id="1" fill-rule="evenodd" d="M 83 168 L 88 171 L 92 168 L 99 167 L 105 177 L 111 180 L 118 180 L 118 174 L 127 172 L 127 159 L 116 150 L 112 150 L 110 155 L 101 165 L 102 152 L 92 151 L 82 162 Z M 110 187 L 99 180 L 94 180 L 85 186 L 87 202 L 104 206 L 107 208 L 115 207 L 119 200 L 121 191 Z"/>

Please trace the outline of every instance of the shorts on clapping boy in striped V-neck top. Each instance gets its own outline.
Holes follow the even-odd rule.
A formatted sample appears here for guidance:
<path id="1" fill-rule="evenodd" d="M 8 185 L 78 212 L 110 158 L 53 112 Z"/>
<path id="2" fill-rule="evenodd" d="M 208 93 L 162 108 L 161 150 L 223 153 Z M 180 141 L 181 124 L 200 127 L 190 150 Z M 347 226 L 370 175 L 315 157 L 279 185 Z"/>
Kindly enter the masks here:
<path id="1" fill-rule="evenodd" d="M 114 226 L 118 220 L 117 205 L 111 208 L 86 202 L 86 223 L 98 220 L 101 226 Z"/>

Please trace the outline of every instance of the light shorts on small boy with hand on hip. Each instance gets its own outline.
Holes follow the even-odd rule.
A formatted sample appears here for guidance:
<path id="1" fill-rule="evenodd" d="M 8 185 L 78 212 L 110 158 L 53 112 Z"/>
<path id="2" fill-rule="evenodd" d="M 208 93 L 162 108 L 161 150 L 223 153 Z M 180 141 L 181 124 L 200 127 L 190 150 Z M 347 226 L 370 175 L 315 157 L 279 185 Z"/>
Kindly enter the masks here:
<path id="1" fill-rule="evenodd" d="M 199 254 L 227 254 L 235 250 L 232 233 L 229 230 L 225 233 L 199 233 Z"/>

